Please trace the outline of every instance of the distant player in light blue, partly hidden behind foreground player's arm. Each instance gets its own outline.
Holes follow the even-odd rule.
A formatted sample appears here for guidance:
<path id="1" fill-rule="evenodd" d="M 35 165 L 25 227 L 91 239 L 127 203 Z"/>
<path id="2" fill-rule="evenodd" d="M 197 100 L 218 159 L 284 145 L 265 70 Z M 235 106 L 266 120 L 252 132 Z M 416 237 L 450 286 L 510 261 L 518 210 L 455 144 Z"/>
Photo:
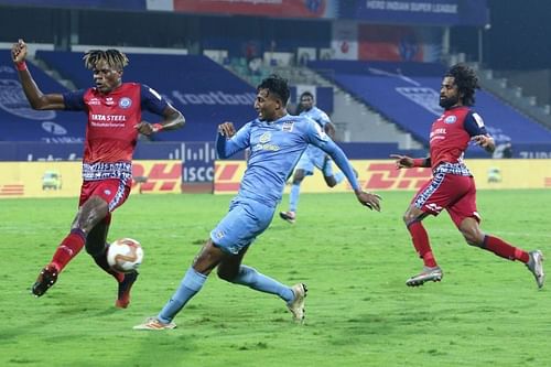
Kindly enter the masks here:
<path id="1" fill-rule="evenodd" d="M 329 117 L 323 110 L 314 106 L 314 95 L 310 91 L 304 91 L 300 98 L 301 112 L 299 116 L 310 117 L 317 122 L 320 127 L 332 139 L 335 138 L 335 127 L 331 122 Z M 333 164 L 329 156 L 320 148 L 310 145 L 302 153 L 296 168 L 294 169 L 293 183 L 289 195 L 289 211 L 280 212 L 279 216 L 291 224 L 296 220 L 296 208 L 299 206 L 299 195 L 301 193 L 301 184 L 305 176 L 314 174 L 314 168 L 322 171 L 323 179 L 329 187 L 343 182 L 345 175 L 343 172 L 333 172 Z"/>

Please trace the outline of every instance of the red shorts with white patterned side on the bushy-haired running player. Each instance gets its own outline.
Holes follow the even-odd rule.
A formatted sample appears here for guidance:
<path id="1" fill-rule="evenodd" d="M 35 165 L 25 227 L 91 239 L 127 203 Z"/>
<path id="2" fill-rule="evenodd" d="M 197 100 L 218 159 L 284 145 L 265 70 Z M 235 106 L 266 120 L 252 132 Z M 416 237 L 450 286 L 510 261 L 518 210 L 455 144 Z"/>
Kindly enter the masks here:
<path id="1" fill-rule="evenodd" d="M 411 204 L 434 216 L 446 209 L 457 227 L 465 218 L 480 222 L 476 212 L 475 180 L 472 176 L 435 173 L 434 177 L 419 190 Z"/>

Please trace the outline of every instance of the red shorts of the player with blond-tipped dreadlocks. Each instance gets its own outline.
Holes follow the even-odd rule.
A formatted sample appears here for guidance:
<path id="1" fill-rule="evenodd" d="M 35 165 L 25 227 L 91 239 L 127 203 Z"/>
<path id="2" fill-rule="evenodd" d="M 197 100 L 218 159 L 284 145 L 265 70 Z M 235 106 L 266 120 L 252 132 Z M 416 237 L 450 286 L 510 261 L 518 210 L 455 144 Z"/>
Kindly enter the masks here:
<path id="1" fill-rule="evenodd" d="M 109 224 L 111 222 L 111 212 L 122 205 L 130 195 L 130 186 L 117 179 L 109 179 L 102 181 L 85 181 L 80 187 L 80 198 L 78 206 L 80 207 L 91 196 L 99 196 L 106 201 L 109 207 L 109 214 L 105 217 L 104 222 Z"/>

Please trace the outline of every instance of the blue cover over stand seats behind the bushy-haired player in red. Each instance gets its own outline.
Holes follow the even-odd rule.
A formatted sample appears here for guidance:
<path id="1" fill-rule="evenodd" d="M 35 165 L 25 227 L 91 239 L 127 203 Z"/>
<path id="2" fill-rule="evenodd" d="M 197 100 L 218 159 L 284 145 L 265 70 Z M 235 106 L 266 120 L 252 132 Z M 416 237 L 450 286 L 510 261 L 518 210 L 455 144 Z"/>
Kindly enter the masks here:
<path id="1" fill-rule="evenodd" d="M 309 66 L 428 144 L 430 125 L 442 112 L 437 105 L 442 65 L 317 61 Z M 477 93 L 475 110 L 497 140 L 510 139 L 514 144 L 551 140 L 550 130 L 484 90 Z"/>

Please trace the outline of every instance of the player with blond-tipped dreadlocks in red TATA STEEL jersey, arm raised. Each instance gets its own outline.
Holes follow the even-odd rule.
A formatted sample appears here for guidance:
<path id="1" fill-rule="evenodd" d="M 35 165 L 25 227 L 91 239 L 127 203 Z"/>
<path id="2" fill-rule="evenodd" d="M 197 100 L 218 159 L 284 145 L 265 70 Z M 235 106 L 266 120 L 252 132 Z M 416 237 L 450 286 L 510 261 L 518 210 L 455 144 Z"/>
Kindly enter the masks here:
<path id="1" fill-rule="evenodd" d="M 12 61 L 23 91 L 33 109 L 80 110 L 86 112 L 86 141 L 83 159 L 83 185 L 78 212 L 69 234 L 57 247 L 52 261 L 32 285 L 35 296 L 43 295 L 57 280 L 65 266 L 86 247 L 94 261 L 118 282 L 115 305 L 126 309 L 138 272 L 116 272 L 107 263 L 107 234 L 111 212 L 122 205 L 132 183 L 132 154 L 138 134 L 150 136 L 173 130 L 185 123 L 182 114 L 155 90 L 138 83 L 122 83 L 127 56 L 118 50 L 91 50 L 84 55 L 93 71 L 95 87 L 64 94 L 43 94 L 25 65 L 28 47 L 20 40 L 12 46 Z M 142 110 L 162 117 L 156 123 L 141 120 Z"/>

